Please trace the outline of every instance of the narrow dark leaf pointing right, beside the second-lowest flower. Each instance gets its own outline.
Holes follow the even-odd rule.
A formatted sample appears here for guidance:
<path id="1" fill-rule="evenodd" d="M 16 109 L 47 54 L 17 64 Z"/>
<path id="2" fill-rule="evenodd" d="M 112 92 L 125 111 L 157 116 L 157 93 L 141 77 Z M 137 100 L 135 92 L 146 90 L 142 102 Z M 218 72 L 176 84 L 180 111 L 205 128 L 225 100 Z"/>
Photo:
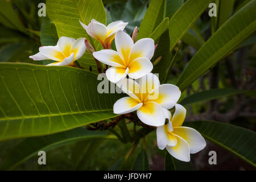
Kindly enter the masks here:
<path id="1" fill-rule="evenodd" d="M 232 89 L 232 88 L 225 88 L 225 89 L 211 89 L 205 90 L 203 92 L 192 94 L 191 96 L 185 97 L 179 104 L 181 105 L 189 105 L 195 104 L 197 102 L 202 101 L 210 101 L 216 98 L 228 97 L 233 96 L 235 94 L 243 93 L 242 90 Z"/>

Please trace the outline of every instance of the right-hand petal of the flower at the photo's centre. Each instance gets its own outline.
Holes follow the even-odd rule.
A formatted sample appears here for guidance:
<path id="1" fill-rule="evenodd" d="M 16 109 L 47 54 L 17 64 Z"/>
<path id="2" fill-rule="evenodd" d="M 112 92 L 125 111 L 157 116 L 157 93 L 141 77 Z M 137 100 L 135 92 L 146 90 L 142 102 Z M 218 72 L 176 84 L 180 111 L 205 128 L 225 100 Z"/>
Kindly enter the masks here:
<path id="1" fill-rule="evenodd" d="M 177 104 L 177 101 L 180 98 L 181 91 L 176 85 L 172 84 L 163 84 L 152 90 L 151 94 L 155 94 L 158 97 L 150 98 L 149 100 L 152 100 L 154 102 L 157 102 L 158 104 L 162 105 L 166 109 L 171 109 L 174 107 L 175 104 Z"/>

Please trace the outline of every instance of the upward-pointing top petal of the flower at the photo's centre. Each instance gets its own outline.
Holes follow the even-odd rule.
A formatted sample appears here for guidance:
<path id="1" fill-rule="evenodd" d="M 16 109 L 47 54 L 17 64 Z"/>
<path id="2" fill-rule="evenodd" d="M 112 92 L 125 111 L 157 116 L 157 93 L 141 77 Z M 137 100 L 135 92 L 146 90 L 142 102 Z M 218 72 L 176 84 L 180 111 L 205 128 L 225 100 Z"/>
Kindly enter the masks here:
<path id="1" fill-rule="evenodd" d="M 147 99 L 148 94 L 160 85 L 158 77 L 155 76 L 153 73 L 148 73 L 147 75 L 139 78 L 138 82 L 141 88 L 143 100 Z M 154 95 L 152 95 L 151 98 L 154 98 Z"/>

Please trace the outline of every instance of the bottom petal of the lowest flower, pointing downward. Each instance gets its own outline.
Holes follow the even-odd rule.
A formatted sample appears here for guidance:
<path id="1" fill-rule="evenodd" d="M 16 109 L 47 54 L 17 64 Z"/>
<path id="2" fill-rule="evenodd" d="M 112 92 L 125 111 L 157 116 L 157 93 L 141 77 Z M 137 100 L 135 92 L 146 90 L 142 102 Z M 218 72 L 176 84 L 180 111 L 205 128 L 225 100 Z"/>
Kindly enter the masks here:
<path id="1" fill-rule="evenodd" d="M 176 159 L 184 162 L 190 161 L 189 147 L 188 143 L 179 136 L 176 136 L 177 144 L 175 147 L 166 146 L 166 150 Z"/>

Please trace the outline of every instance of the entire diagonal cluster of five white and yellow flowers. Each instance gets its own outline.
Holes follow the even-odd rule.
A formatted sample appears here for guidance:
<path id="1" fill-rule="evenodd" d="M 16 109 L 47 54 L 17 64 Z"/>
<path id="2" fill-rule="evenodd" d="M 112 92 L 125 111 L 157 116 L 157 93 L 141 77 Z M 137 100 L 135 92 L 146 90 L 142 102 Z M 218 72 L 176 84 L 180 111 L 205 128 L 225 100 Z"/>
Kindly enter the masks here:
<path id="1" fill-rule="evenodd" d="M 154 40 L 144 38 L 135 42 L 137 37 L 134 35 L 137 35 L 137 32 L 133 34 L 132 39 L 123 32 L 128 23 L 122 21 L 105 26 L 92 19 L 88 26 L 81 21 L 80 24 L 104 49 L 95 52 L 85 38 L 75 40 L 61 37 L 56 46 L 40 47 L 39 53 L 30 58 L 57 61 L 49 65 L 74 66 L 74 61 L 79 59 L 87 48 L 97 65 L 100 65 L 100 61 L 110 66 L 106 67 L 106 77 L 129 96 L 115 102 L 115 114 L 136 111 L 141 122 L 156 127 L 158 147 L 161 150 L 166 148 L 176 159 L 188 162 L 189 154 L 203 150 L 206 143 L 200 133 L 190 127 L 181 126 L 186 110 L 177 104 L 181 95 L 180 89 L 172 84 L 160 85 L 158 77 L 151 73 L 153 64 L 150 60 L 154 56 Z M 117 51 L 110 49 L 113 39 Z M 173 107 L 175 113 L 172 116 L 169 109 Z"/>

